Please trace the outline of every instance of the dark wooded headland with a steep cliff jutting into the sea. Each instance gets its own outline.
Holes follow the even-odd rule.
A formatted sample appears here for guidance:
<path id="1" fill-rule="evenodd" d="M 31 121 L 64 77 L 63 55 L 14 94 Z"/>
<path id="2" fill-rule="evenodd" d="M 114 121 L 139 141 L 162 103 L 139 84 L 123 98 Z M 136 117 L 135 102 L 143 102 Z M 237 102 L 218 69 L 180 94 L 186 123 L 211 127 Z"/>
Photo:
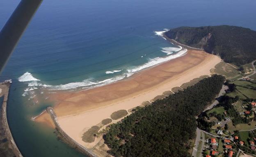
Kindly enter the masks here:
<path id="1" fill-rule="evenodd" d="M 176 40 L 238 66 L 256 59 L 256 31 L 236 26 L 178 27 L 165 32 Z"/>

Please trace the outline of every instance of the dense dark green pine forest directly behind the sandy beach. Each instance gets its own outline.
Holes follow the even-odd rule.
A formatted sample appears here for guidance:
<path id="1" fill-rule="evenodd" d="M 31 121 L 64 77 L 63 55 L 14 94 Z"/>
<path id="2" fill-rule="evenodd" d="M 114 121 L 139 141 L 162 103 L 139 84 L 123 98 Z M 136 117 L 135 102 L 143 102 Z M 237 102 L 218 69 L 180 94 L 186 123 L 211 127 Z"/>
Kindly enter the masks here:
<path id="1" fill-rule="evenodd" d="M 225 78 L 213 75 L 111 124 L 103 135 L 114 157 L 189 157 L 195 116 L 210 104 Z"/>

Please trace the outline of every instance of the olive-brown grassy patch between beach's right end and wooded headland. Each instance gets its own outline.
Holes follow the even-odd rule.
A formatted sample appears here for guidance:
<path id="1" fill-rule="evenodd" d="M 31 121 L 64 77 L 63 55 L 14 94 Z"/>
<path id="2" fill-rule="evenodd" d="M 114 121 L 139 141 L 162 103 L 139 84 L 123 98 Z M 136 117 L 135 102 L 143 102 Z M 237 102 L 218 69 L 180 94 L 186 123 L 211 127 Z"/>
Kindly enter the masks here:
<path id="1" fill-rule="evenodd" d="M 217 64 L 213 72 L 219 75 L 224 75 L 227 79 L 231 79 L 237 75 L 240 75 L 240 71 L 225 62 L 220 62 Z"/>

